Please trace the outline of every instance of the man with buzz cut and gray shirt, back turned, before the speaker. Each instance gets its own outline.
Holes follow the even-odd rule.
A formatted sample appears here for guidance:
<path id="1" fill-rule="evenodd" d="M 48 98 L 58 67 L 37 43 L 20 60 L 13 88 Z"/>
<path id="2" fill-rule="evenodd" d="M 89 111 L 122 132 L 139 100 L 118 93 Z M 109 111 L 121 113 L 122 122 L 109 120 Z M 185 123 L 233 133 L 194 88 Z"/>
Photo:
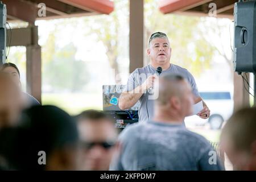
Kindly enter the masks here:
<path id="1" fill-rule="evenodd" d="M 154 118 L 122 131 L 121 155 L 113 159 L 110 170 L 222 170 L 208 140 L 183 125 L 193 102 L 184 77 L 160 76 Z"/>

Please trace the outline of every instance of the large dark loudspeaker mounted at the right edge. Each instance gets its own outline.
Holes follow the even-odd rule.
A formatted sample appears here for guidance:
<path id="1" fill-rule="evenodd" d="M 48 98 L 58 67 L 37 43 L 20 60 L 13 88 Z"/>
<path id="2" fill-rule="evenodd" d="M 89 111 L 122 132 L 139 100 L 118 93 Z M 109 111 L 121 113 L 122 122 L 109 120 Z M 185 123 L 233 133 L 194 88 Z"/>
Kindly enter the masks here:
<path id="1" fill-rule="evenodd" d="M 256 1 L 234 5 L 234 71 L 256 72 Z"/>

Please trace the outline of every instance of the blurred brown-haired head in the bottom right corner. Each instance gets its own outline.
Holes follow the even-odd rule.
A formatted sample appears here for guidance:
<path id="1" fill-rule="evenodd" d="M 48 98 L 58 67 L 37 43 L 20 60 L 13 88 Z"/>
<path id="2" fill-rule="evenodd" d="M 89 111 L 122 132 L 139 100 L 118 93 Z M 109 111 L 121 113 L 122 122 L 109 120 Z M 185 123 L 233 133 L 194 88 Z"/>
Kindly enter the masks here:
<path id="1" fill-rule="evenodd" d="M 234 170 L 256 171 L 256 108 L 237 111 L 221 133 L 221 148 Z"/>

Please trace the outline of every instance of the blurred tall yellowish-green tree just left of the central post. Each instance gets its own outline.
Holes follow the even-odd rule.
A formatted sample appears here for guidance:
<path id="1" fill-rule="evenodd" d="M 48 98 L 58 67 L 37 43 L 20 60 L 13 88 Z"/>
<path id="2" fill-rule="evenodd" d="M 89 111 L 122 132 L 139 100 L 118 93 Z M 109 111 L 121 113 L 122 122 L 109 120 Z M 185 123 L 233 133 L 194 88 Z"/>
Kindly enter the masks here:
<path id="1" fill-rule="evenodd" d="M 115 10 L 110 15 L 91 16 L 85 19 L 85 25 L 93 25 L 85 36 L 96 35 L 96 40 L 102 42 L 106 49 L 109 64 L 115 71 L 115 75 L 119 74 L 118 56 L 122 54 L 120 38 L 122 22 L 129 23 L 128 1 L 114 0 Z M 121 78 L 115 80 L 116 84 L 121 82 Z"/>

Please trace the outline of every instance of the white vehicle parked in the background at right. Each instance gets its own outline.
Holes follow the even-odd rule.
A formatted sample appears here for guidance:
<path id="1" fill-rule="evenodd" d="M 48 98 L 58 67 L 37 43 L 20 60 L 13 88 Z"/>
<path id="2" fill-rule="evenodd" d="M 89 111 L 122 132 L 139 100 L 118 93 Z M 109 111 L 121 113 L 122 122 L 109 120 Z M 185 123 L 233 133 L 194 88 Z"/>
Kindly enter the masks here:
<path id="1" fill-rule="evenodd" d="M 200 92 L 200 96 L 210 109 L 210 117 L 202 119 L 197 115 L 185 118 L 187 127 L 205 126 L 207 123 L 210 129 L 221 129 L 223 123 L 232 115 L 234 101 L 233 92 L 227 90 Z"/>

